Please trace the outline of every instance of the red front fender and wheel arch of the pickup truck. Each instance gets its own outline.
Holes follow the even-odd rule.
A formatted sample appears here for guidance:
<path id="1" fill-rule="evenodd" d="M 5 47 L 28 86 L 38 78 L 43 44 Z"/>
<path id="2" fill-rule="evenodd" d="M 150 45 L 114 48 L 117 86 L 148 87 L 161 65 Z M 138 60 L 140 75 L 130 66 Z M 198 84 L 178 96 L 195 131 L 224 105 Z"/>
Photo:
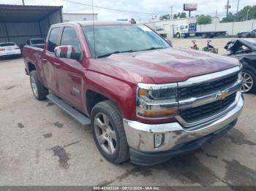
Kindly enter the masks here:
<path id="1" fill-rule="evenodd" d="M 91 115 L 91 110 L 95 104 L 100 101 L 111 100 L 118 106 L 122 117 L 135 118 L 136 85 L 91 71 L 86 76 L 85 103 L 83 105 L 88 116 Z"/>

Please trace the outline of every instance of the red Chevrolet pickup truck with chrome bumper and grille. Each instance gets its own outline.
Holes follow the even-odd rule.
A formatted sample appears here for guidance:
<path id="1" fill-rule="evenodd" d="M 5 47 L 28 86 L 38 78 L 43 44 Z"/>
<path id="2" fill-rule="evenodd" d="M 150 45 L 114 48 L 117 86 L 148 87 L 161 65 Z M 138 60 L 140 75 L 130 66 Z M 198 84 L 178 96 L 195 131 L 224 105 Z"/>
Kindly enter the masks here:
<path id="1" fill-rule="evenodd" d="M 238 60 L 173 48 L 141 24 L 59 23 L 43 50 L 25 46 L 23 56 L 34 97 L 91 124 L 112 163 L 195 150 L 233 128 L 243 107 Z"/>

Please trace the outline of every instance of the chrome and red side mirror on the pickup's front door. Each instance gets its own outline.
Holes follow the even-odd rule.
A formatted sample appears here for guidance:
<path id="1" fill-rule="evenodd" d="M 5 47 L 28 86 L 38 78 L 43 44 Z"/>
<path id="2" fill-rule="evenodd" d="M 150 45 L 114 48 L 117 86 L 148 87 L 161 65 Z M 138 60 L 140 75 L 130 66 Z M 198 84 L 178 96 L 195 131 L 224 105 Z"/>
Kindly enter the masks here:
<path id="1" fill-rule="evenodd" d="M 54 54 L 56 58 L 69 58 L 77 61 L 82 58 L 82 52 L 76 52 L 75 47 L 72 46 L 55 47 Z"/>

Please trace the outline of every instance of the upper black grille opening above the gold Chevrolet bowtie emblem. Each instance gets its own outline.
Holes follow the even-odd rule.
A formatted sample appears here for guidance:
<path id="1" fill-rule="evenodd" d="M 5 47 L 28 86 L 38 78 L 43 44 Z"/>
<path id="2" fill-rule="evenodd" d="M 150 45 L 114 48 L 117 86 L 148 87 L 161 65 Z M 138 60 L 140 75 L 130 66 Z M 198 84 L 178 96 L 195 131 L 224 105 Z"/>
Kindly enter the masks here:
<path id="1" fill-rule="evenodd" d="M 197 95 L 210 93 L 211 91 L 221 90 L 222 88 L 233 85 L 238 79 L 238 73 L 217 79 L 212 82 L 204 82 L 200 85 L 178 88 L 178 98 L 191 98 Z"/>

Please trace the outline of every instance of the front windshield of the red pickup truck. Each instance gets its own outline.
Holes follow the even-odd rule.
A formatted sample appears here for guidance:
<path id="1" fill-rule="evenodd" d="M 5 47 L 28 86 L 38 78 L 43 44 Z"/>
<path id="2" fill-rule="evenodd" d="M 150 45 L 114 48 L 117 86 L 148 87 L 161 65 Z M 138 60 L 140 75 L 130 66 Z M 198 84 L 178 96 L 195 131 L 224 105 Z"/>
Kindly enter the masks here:
<path id="1" fill-rule="evenodd" d="M 146 26 L 83 26 L 83 33 L 86 35 L 94 58 L 102 58 L 113 53 L 170 47 Z"/>

